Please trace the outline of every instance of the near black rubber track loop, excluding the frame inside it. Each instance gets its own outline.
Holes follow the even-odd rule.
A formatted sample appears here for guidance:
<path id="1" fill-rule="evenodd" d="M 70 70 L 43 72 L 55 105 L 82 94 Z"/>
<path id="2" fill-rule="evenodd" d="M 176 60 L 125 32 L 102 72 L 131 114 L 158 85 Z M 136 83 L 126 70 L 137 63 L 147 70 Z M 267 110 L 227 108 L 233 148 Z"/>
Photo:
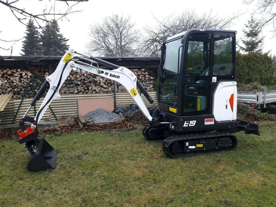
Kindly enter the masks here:
<path id="1" fill-rule="evenodd" d="M 217 137 L 232 137 L 232 146 L 228 148 L 220 148 L 220 149 L 214 149 L 214 150 L 201 150 L 201 151 L 194 151 L 194 152 L 182 152 L 182 153 L 176 153 L 173 154 L 170 152 L 170 145 L 173 144 L 176 141 L 194 141 L 194 140 L 200 140 L 200 139 L 214 139 Z M 229 133 L 229 132 L 212 132 L 212 133 L 199 133 L 199 134 L 190 134 L 190 135 L 175 135 L 167 137 L 163 140 L 163 146 L 162 149 L 164 153 L 171 158 L 180 158 L 180 157 L 187 157 L 187 156 L 195 156 L 195 155 L 202 155 L 202 154 L 211 154 L 211 153 L 217 153 L 217 152 L 227 152 L 234 150 L 237 146 L 237 138 Z"/>

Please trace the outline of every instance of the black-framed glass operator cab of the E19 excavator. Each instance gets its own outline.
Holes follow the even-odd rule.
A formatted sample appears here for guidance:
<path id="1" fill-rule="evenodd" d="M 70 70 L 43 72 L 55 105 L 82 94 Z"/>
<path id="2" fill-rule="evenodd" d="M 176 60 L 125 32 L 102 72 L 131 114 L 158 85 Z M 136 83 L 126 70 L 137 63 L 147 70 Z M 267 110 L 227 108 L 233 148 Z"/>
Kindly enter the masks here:
<path id="1" fill-rule="evenodd" d="M 235 31 L 188 30 L 168 38 L 162 46 L 159 108 L 177 116 L 212 114 L 216 86 L 235 81 L 235 53 Z"/>

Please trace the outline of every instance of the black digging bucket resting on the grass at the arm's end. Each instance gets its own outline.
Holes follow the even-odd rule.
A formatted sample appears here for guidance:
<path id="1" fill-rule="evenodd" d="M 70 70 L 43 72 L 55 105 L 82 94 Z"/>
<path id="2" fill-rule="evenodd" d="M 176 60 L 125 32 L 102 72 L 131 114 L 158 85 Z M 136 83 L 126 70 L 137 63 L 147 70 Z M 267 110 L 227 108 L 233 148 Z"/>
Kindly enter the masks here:
<path id="1" fill-rule="evenodd" d="M 35 145 L 36 152 L 31 154 L 28 162 L 28 171 L 38 172 L 56 167 L 57 150 L 54 149 L 45 139 L 38 139 Z"/>

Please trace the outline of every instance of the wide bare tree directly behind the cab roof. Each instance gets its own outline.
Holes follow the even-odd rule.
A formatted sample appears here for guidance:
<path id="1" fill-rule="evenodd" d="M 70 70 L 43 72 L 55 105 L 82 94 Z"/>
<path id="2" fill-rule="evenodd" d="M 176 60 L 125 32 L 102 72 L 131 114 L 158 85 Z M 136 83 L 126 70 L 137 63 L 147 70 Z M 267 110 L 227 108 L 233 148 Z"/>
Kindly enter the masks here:
<path id="1" fill-rule="evenodd" d="M 238 16 L 240 16 L 240 14 L 236 13 L 229 18 L 220 18 L 217 15 L 212 15 L 212 11 L 208 14 L 204 13 L 198 15 L 194 10 L 186 10 L 179 16 L 171 15 L 162 20 L 155 18 L 155 27 L 146 26 L 144 28 L 146 35 L 143 37 L 141 54 L 143 54 L 143 56 L 160 56 L 160 46 L 164 38 L 191 28 L 224 29 Z"/>

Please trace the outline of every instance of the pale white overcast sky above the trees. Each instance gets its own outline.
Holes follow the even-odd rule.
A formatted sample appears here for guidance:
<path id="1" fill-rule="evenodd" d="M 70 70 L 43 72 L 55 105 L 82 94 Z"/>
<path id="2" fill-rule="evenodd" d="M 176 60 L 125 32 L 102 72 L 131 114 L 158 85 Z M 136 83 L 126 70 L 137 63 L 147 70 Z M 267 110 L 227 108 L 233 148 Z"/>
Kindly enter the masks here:
<path id="1" fill-rule="evenodd" d="M 43 1 L 25 1 L 20 0 L 21 3 L 17 4 L 18 7 L 26 8 L 26 11 L 37 13 L 37 11 L 42 11 L 45 8 L 45 4 L 49 0 Z M 146 24 L 149 26 L 155 25 L 155 20 L 153 15 L 162 19 L 171 14 L 179 14 L 183 10 L 195 10 L 197 14 L 203 14 L 204 12 L 209 13 L 212 9 L 213 15 L 218 15 L 221 18 L 228 18 L 233 16 L 233 13 L 240 12 L 241 15 L 238 19 L 234 21 L 234 24 L 231 24 L 228 29 L 237 30 L 237 37 L 243 37 L 242 29 L 244 24 L 247 23 L 247 20 L 250 18 L 250 13 L 254 8 L 256 8 L 256 2 L 253 2 L 250 5 L 245 5 L 242 3 L 242 0 L 232 0 L 232 1 L 221 1 L 221 0 L 212 0 L 212 1 L 173 1 L 174 3 L 170 4 L 168 1 L 95 1 L 90 0 L 88 2 L 83 2 L 76 7 L 76 9 L 83 9 L 82 12 L 70 14 L 68 20 L 60 20 L 59 26 L 64 37 L 68 38 L 68 44 L 70 48 L 75 49 L 79 52 L 85 52 L 85 45 L 89 41 L 89 26 L 101 20 L 105 16 L 112 14 L 126 15 L 131 16 L 132 21 L 137 25 L 137 28 L 143 28 Z M 62 9 L 66 8 L 66 4 L 63 2 L 57 2 L 56 7 Z M 20 39 L 24 37 L 24 32 L 26 31 L 26 26 L 18 22 L 18 20 L 13 16 L 8 7 L 0 5 L 0 39 Z M 4 19 L 3 19 L 4 18 Z M 264 39 L 264 48 L 263 51 L 267 52 L 271 50 L 272 54 L 276 54 L 276 38 L 272 37 L 273 34 L 269 31 L 271 26 L 264 28 L 263 36 Z M 3 42 L 0 42 L 0 46 L 3 45 Z M 18 42 L 13 47 L 12 55 L 19 55 L 21 53 L 22 43 Z M 0 49 L 0 55 L 9 55 L 9 52 Z"/>

